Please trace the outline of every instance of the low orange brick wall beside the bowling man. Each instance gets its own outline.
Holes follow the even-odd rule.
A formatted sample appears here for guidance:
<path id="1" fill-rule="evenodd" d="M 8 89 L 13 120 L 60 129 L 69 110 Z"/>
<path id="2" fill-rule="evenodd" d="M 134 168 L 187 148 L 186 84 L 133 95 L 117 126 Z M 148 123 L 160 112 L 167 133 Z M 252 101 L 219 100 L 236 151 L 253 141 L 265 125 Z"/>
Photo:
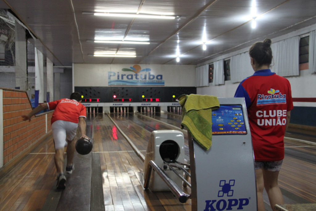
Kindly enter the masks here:
<path id="1" fill-rule="evenodd" d="M 46 134 L 45 114 L 33 117 L 31 122 L 21 116 L 32 111 L 27 93 L 3 90 L 3 165 L 27 149 Z M 47 113 L 47 132 L 51 131 L 52 112 Z"/>

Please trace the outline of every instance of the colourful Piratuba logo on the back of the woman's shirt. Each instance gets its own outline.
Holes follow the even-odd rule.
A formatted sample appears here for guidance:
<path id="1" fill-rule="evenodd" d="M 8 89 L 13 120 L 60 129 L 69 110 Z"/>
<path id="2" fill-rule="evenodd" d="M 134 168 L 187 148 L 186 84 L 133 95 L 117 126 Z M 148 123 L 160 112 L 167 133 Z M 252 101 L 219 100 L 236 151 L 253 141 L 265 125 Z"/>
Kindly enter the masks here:
<path id="1" fill-rule="evenodd" d="M 270 89 L 268 94 L 258 94 L 257 105 L 286 104 L 286 94 L 282 94 L 280 90 Z"/>

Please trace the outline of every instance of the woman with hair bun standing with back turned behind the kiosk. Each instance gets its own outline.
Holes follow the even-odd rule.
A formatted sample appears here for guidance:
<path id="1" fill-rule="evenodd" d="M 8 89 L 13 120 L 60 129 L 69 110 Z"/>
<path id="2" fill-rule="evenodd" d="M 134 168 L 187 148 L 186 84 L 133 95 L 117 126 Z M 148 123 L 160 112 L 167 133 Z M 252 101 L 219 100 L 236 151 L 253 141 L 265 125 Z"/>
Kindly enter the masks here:
<path id="1" fill-rule="evenodd" d="M 246 101 L 255 157 L 258 211 L 264 211 L 265 188 L 272 210 L 284 204 L 278 175 L 284 158 L 283 137 L 293 109 L 291 86 L 287 79 L 272 73 L 271 40 L 254 43 L 249 49 L 255 73 L 243 80 L 234 97 Z"/>

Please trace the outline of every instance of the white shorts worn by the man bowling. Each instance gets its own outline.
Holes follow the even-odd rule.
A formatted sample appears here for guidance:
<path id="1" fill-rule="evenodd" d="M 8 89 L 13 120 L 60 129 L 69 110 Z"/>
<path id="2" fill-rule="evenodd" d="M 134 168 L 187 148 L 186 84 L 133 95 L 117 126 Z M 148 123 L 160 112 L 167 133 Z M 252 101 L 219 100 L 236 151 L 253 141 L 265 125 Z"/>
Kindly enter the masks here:
<path id="1" fill-rule="evenodd" d="M 66 138 L 68 141 L 74 139 L 77 132 L 77 123 L 57 120 L 52 124 L 52 131 L 54 137 L 55 149 L 62 149 L 67 146 Z"/>

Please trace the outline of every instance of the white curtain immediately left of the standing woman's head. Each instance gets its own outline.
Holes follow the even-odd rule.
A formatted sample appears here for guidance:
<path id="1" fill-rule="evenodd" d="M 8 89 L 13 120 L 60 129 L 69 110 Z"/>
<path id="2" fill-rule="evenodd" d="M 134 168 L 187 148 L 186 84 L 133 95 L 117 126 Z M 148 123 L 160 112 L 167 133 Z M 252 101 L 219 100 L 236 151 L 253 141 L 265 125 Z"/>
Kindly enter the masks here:
<path id="1" fill-rule="evenodd" d="M 248 51 L 230 58 L 230 80 L 233 83 L 241 82 L 253 73 Z"/>

